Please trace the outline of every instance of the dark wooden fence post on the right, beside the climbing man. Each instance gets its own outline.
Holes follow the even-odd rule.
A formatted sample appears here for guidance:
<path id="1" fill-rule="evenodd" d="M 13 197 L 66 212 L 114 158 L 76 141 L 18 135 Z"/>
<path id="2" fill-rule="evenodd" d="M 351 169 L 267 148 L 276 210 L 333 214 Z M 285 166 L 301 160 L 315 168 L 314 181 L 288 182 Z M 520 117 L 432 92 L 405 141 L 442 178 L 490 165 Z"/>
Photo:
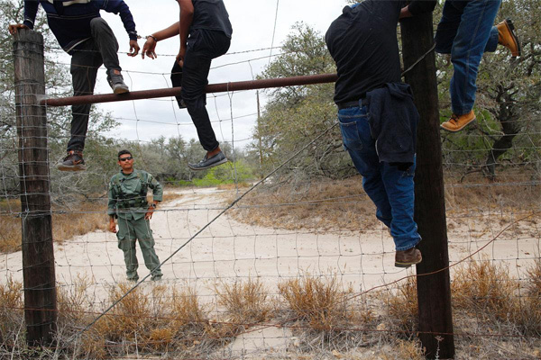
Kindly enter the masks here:
<path id="1" fill-rule="evenodd" d="M 407 68 L 434 44 L 432 14 L 403 20 L 401 30 Z M 417 265 L 419 338 L 427 358 L 450 359 L 454 358 L 453 314 L 434 52 L 406 74 L 406 82 L 421 115 L 415 175 L 415 220 L 423 238 L 418 247 L 423 262 Z"/>

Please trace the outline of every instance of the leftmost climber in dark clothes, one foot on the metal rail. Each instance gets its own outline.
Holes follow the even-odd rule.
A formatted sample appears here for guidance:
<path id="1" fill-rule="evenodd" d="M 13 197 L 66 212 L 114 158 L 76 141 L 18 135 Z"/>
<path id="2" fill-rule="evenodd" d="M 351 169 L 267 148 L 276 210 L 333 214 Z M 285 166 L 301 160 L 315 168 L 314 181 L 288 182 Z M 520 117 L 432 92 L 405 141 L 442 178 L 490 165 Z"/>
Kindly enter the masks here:
<path id="1" fill-rule="evenodd" d="M 124 84 L 122 68 L 118 61 L 118 42 L 115 34 L 101 18 L 99 12 L 120 14 L 130 38 L 129 56 L 139 53 L 137 31 L 130 9 L 123 0 L 24 0 L 24 22 L 9 25 L 14 34 L 17 29 L 33 29 L 38 7 L 47 14 L 50 30 L 62 49 L 71 55 L 71 77 L 75 96 L 94 93 L 98 67 L 105 65 L 107 81 L 115 94 L 129 91 Z M 71 110 L 71 139 L 68 156 L 60 160 L 61 171 L 85 170 L 83 150 L 87 137 L 90 104 L 73 105 Z"/>

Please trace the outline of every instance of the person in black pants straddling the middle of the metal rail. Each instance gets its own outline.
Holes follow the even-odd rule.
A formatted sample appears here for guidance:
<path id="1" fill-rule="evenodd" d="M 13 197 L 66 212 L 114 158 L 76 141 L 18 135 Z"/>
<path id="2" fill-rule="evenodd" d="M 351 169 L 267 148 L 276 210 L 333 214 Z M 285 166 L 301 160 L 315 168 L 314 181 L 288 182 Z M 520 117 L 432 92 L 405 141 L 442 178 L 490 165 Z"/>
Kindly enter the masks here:
<path id="1" fill-rule="evenodd" d="M 233 28 L 223 0 L 177 0 L 180 21 L 169 28 L 154 32 L 142 47 L 142 58 L 156 58 L 156 43 L 175 35 L 180 37 L 180 49 L 171 71 L 173 86 L 182 86 L 177 97 L 180 108 L 188 108 L 197 136 L 206 156 L 197 164 L 188 164 L 192 170 L 204 170 L 225 164 L 227 158 L 220 149 L 215 132 L 206 112 L 205 86 L 210 64 L 227 52 Z"/>

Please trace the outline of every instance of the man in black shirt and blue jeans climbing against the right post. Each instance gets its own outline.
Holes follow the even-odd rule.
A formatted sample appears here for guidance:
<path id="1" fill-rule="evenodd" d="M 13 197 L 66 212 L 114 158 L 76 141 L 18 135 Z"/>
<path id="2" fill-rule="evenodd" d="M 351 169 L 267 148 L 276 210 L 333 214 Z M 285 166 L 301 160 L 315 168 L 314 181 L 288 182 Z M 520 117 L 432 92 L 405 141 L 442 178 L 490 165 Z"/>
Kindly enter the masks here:
<path id="1" fill-rule="evenodd" d="M 401 83 L 397 24 L 401 14 L 429 13 L 436 0 L 365 0 L 345 6 L 326 32 L 338 80 L 335 103 L 344 148 L 395 242 L 395 266 L 422 261 L 414 214 L 418 112 Z M 383 149 L 381 153 L 378 150 Z"/>

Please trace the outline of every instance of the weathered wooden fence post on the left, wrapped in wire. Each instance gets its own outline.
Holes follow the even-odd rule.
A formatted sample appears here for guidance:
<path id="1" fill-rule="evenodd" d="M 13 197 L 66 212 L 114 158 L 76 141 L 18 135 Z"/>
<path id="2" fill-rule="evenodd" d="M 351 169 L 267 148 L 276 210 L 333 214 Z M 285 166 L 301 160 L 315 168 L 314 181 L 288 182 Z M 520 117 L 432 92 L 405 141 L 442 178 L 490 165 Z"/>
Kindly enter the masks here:
<path id="1" fill-rule="evenodd" d="M 49 193 L 43 37 L 14 35 L 15 107 L 23 222 L 24 320 L 29 346 L 52 343 L 57 300 Z"/>

